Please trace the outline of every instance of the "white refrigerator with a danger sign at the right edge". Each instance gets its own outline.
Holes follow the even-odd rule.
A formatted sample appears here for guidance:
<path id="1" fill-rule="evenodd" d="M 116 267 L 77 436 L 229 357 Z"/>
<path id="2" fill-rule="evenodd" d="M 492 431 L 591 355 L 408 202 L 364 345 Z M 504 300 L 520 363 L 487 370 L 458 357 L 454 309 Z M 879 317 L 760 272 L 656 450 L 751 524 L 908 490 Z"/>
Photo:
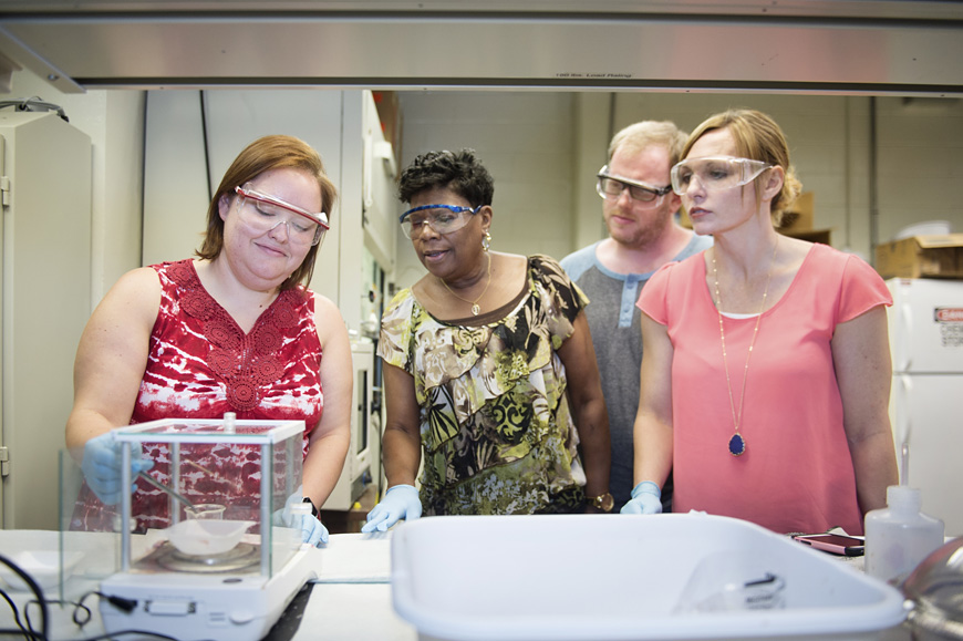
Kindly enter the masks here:
<path id="1" fill-rule="evenodd" d="M 963 280 L 893 278 L 887 285 L 900 477 L 920 488 L 923 511 L 943 520 L 946 536 L 963 536 Z"/>

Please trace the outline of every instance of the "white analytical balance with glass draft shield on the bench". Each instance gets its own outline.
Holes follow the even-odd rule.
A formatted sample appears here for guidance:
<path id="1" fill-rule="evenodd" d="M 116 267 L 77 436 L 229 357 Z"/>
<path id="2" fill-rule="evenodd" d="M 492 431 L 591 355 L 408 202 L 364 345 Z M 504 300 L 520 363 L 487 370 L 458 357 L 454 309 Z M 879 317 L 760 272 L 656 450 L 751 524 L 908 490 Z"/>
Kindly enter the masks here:
<path id="1" fill-rule="evenodd" d="M 134 604 L 125 611 L 102 598 L 106 632 L 257 641 L 270 631 L 301 587 L 317 578 L 302 549 L 300 518 L 292 520 L 297 527 L 276 525 L 286 500 L 299 493 L 303 432 L 302 421 L 230 418 L 163 420 L 113 431 L 122 445 L 123 487 L 136 480 L 131 459 L 143 453 L 167 471 L 172 492 L 169 527 L 145 534 L 131 529 L 154 515 L 137 514 L 136 497 L 123 493 L 120 523 L 131 527 L 120 528 L 120 571 L 100 591 Z M 238 457 L 239 466 L 218 466 Z M 222 497 L 213 520 L 191 518 L 185 509 L 188 488 L 198 487 L 216 488 Z M 288 503 L 296 513 L 310 510 L 299 496 Z"/>

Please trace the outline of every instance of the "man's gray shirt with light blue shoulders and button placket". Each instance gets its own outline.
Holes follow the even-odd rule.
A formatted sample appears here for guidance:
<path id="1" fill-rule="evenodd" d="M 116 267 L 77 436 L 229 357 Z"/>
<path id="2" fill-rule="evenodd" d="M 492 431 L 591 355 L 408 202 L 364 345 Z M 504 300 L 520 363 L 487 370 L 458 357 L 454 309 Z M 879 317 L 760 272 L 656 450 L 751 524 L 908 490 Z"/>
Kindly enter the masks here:
<path id="1" fill-rule="evenodd" d="M 601 242 L 601 241 L 599 241 Z M 635 301 L 642 287 L 655 273 L 615 273 L 599 262 L 590 245 L 561 260 L 561 266 L 589 297 L 586 318 L 592 332 L 592 344 L 602 378 L 602 394 L 609 411 L 609 432 L 612 438 L 612 473 L 610 492 L 618 511 L 631 498 L 634 453 L 632 432 L 639 410 L 639 368 L 642 364 L 642 330 Z M 712 247 L 708 236 L 693 236 L 679 256 L 679 261 Z M 662 488 L 665 511 L 672 505 L 672 475 Z"/>

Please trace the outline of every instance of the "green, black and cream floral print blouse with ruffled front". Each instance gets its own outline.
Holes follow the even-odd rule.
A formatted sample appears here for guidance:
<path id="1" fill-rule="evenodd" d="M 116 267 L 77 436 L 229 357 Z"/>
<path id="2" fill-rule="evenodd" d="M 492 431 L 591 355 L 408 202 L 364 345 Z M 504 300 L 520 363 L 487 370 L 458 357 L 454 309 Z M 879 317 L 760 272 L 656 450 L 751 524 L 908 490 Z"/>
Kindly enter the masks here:
<path id="1" fill-rule="evenodd" d="M 411 289 L 385 310 L 377 352 L 414 378 L 427 515 L 581 509 L 586 475 L 557 350 L 588 298 L 548 256 L 509 304 L 442 321 Z"/>

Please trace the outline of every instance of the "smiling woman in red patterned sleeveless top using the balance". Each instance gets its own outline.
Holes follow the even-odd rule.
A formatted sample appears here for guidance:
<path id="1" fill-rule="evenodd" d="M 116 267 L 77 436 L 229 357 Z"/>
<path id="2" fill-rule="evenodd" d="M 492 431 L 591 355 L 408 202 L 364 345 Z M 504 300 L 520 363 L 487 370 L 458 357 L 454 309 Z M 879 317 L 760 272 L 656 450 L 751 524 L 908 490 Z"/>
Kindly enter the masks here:
<path id="1" fill-rule="evenodd" d="M 324 503 L 350 441 L 351 348 L 338 308 L 306 285 L 335 197 L 314 149 L 290 136 L 259 138 L 214 195 L 198 258 L 135 269 L 107 292 L 74 365 L 66 443 L 83 446 L 87 485 L 74 528 L 110 529 L 114 510 L 104 506 L 120 502 L 120 459 L 107 432 L 157 418 L 234 412 L 303 420 L 303 497 Z M 253 497 L 258 488 L 259 466 L 248 454 L 235 445 L 193 458 L 198 469 L 182 473 L 184 493 L 195 503 L 238 507 L 237 496 Z M 151 467 L 169 482 L 165 447 L 148 447 L 133 472 Z M 167 502 L 137 482 L 138 525 L 165 527 Z M 304 541 L 327 541 L 312 511 L 288 525 L 300 525 Z"/>

